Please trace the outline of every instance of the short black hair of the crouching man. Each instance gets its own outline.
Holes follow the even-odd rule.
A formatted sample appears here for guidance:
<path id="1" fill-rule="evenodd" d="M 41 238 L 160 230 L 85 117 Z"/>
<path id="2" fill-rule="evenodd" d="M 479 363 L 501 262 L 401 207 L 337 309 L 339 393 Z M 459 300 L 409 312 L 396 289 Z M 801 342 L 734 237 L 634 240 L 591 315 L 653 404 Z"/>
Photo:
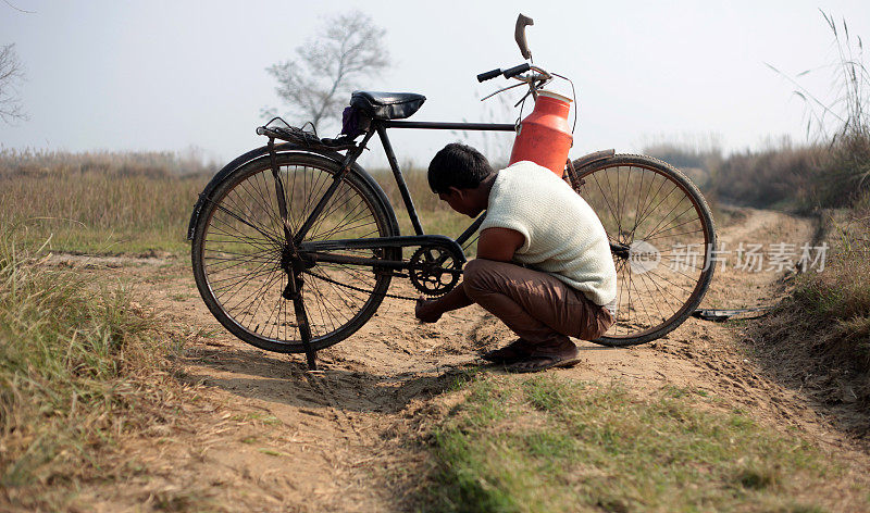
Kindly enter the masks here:
<path id="1" fill-rule="evenodd" d="M 474 189 L 493 173 L 493 166 L 480 151 L 461 142 L 451 142 L 432 158 L 428 186 L 435 193 L 447 192 L 450 187 Z"/>

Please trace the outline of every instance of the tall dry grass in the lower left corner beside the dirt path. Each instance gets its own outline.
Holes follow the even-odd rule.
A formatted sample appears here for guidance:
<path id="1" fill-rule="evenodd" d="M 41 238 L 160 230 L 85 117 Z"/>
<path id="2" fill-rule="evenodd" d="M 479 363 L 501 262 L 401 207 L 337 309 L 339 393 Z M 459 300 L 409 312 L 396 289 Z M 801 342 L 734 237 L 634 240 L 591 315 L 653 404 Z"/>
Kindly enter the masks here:
<path id="1" fill-rule="evenodd" d="M 117 441 L 170 422 L 179 347 L 130 290 L 45 267 L 3 228 L 0 504 L 57 510 L 46 497 L 123 474 L 107 463 Z"/>

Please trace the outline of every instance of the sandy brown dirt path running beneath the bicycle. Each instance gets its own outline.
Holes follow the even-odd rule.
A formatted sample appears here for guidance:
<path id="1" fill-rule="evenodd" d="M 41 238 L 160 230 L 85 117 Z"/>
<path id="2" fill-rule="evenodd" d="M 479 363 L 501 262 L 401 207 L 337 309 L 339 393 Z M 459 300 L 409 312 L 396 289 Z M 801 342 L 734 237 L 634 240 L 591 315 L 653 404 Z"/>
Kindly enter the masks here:
<path id="1" fill-rule="evenodd" d="M 741 241 L 800 245 L 815 229 L 811 221 L 783 213 L 745 213 L 720 229 L 728 249 Z M 780 276 L 735 271 L 731 258 L 703 306 L 770 304 Z M 83 263 L 64 259 L 67 265 Z M 147 434 L 129 445 L 127 458 L 147 471 L 122 487 L 89 490 L 83 500 L 98 510 L 135 509 L 142 501 L 228 511 L 400 510 L 384 471 L 401 480 L 413 470 L 415 456 L 402 441 L 417 433 L 421 417 L 445 411 L 436 396 L 452 368 L 512 338 L 476 306 L 421 325 L 413 321 L 412 303 L 388 299 L 356 336 L 320 352 L 322 374 L 309 374 L 300 355 L 266 353 L 229 336 L 199 299 L 185 261 L 84 263 L 107 277 L 134 278 L 165 318 L 189 329 L 184 365 L 202 397 L 191 403 L 185 423 L 166 426 L 160 443 Z M 620 380 L 641 393 L 664 386 L 706 390 L 728 408 L 797 427 L 845 461 L 866 465 L 848 437 L 796 392 L 761 377 L 742 353 L 739 337 L 733 325 L 689 318 L 668 337 L 636 348 L 582 342 L 583 363 L 556 372 Z"/>

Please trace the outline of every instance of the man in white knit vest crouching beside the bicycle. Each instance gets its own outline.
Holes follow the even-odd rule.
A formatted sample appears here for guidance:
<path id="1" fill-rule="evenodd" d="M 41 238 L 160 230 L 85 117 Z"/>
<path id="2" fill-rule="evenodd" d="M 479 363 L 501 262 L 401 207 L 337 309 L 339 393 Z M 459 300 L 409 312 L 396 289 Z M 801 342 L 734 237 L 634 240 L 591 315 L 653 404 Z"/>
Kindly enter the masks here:
<path id="1" fill-rule="evenodd" d="M 444 297 L 417 302 L 425 323 L 477 303 L 520 338 L 482 355 L 527 373 L 577 362 L 568 337 L 593 340 L 616 320 L 617 271 L 601 222 L 586 201 L 546 167 L 518 162 L 495 172 L 486 158 L 447 145 L 428 166 L 432 191 L 455 211 L 486 210 L 477 258 Z"/>

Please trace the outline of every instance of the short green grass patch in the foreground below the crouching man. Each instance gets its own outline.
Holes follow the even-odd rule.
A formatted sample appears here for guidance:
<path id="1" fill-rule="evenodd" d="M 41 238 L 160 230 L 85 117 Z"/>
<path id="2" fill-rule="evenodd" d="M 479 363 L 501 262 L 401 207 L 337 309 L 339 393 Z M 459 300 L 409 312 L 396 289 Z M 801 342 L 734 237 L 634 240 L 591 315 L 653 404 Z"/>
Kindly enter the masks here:
<path id="1" fill-rule="evenodd" d="M 816 511 L 837 500 L 818 488 L 842 471 L 803 439 L 712 412 L 691 391 L 639 399 L 494 375 L 463 388 L 433 430 L 422 511 Z"/>

